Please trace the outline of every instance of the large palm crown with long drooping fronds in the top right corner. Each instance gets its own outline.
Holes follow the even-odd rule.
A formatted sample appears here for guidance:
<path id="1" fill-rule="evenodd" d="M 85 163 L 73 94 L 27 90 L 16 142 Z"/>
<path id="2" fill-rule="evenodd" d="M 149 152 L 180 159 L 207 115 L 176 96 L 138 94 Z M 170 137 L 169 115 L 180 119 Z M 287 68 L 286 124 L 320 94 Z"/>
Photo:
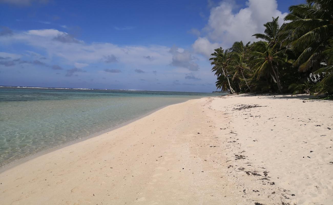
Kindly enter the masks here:
<path id="1" fill-rule="evenodd" d="M 333 37 L 333 0 L 307 0 L 306 4 L 289 7 L 282 26 L 283 45 L 301 54 L 294 62 L 299 71 L 317 70 L 326 62 L 323 51 Z"/>

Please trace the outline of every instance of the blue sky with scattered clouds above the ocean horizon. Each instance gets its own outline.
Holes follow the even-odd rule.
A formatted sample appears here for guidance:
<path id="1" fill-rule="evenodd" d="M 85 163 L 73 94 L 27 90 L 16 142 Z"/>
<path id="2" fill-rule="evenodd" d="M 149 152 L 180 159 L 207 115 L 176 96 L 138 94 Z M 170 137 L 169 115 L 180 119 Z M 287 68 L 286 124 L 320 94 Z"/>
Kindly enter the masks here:
<path id="1" fill-rule="evenodd" d="M 0 85 L 211 92 L 214 48 L 301 0 L 0 0 Z"/>

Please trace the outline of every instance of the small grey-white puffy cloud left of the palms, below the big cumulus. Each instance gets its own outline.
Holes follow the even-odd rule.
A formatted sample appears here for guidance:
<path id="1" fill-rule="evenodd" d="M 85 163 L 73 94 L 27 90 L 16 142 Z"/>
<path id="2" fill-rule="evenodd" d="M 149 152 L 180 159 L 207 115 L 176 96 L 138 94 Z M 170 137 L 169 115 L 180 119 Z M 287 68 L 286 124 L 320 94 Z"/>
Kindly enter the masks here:
<path id="1" fill-rule="evenodd" d="M 190 52 L 186 50 L 179 52 L 179 49 L 176 46 L 173 46 L 169 52 L 172 54 L 172 66 L 187 68 L 190 71 L 199 70 L 199 66 L 193 62 L 195 58 Z"/>

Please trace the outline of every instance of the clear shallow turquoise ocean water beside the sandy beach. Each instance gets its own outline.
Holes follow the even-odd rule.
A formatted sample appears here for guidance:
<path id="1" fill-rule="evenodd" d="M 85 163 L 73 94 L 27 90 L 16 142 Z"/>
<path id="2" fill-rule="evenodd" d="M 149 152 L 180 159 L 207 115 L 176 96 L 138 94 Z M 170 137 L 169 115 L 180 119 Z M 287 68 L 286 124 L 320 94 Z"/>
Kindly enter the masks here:
<path id="1" fill-rule="evenodd" d="M 0 87 L 0 167 L 213 93 Z"/>

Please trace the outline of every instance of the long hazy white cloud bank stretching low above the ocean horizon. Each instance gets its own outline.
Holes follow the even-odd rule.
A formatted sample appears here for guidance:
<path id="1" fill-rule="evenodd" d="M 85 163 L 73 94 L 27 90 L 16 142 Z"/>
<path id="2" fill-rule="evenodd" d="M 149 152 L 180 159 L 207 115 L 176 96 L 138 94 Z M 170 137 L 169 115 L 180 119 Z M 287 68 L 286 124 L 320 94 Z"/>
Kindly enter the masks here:
<path id="1" fill-rule="evenodd" d="M 59 39 L 59 36 L 64 38 Z M 105 42 L 86 43 L 76 39 L 80 41 L 77 43 L 75 42 L 76 40 L 70 37 L 66 32 L 56 29 L 30 30 L 19 33 L 14 32 L 13 35 L 6 37 L 0 36 L 0 44 L 6 44 L 8 47 L 12 44 L 18 44 L 27 47 L 29 50 L 43 53 L 43 56 L 47 57 L 47 59 L 43 60 L 44 63 L 59 65 L 63 68 L 61 70 L 58 67 L 53 68 L 51 66 L 48 68 L 50 72 L 55 72 L 55 69 L 58 69 L 61 74 L 71 77 L 71 79 L 76 76 L 80 76 L 82 79 L 94 76 L 97 79 L 105 77 L 105 69 L 109 69 L 108 71 L 112 72 L 121 69 L 121 72 L 117 75 L 117 79 L 122 82 L 123 87 L 119 87 L 122 89 L 132 89 L 126 83 L 136 85 L 138 81 L 136 76 L 139 74 L 134 72 L 135 69 L 143 70 L 147 81 L 155 79 L 156 75 L 158 75 L 159 82 L 165 85 L 168 84 L 170 79 L 179 79 L 180 83 L 189 80 L 189 77 L 184 78 L 189 73 L 189 70 L 195 71 L 195 78 L 200 78 L 200 82 L 202 83 L 215 82 L 215 77 L 211 75 L 209 63 L 207 63 L 206 58 L 203 58 L 201 55 L 195 55 L 188 49 L 170 48 L 161 45 L 120 46 Z M 28 62 L 33 62 L 32 60 L 38 58 L 31 55 L 24 55 L 23 57 L 22 61 Z M 18 63 L 14 63 L 15 65 L 8 64 L 7 59 L 3 59 L 3 61 L 6 61 L 4 65 L 1 65 L 3 68 L 13 66 L 12 68 L 15 69 L 23 65 Z M 112 64 L 108 62 L 112 62 Z M 85 65 L 89 65 L 89 69 L 85 69 Z M 25 70 L 34 70 L 37 68 L 31 63 L 25 63 L 24 67 L 27 68 Z M 199 67 L 202 69 L 199 69 Z M 73 83 L 73 81 L 69 82 Z M 142 89 L 151 88 L 145 87 Z M 164 89 L 170 88 L 165 87 Z M 209 88 L 208 90 L 205 89 L 201 91 L 210 91 Z M 210 89 L 214 89 L 214 85 Z M 179 87 L 178 90 L 183 89 Z M 193 88 L 191 91 L 200 90 Z"/>

